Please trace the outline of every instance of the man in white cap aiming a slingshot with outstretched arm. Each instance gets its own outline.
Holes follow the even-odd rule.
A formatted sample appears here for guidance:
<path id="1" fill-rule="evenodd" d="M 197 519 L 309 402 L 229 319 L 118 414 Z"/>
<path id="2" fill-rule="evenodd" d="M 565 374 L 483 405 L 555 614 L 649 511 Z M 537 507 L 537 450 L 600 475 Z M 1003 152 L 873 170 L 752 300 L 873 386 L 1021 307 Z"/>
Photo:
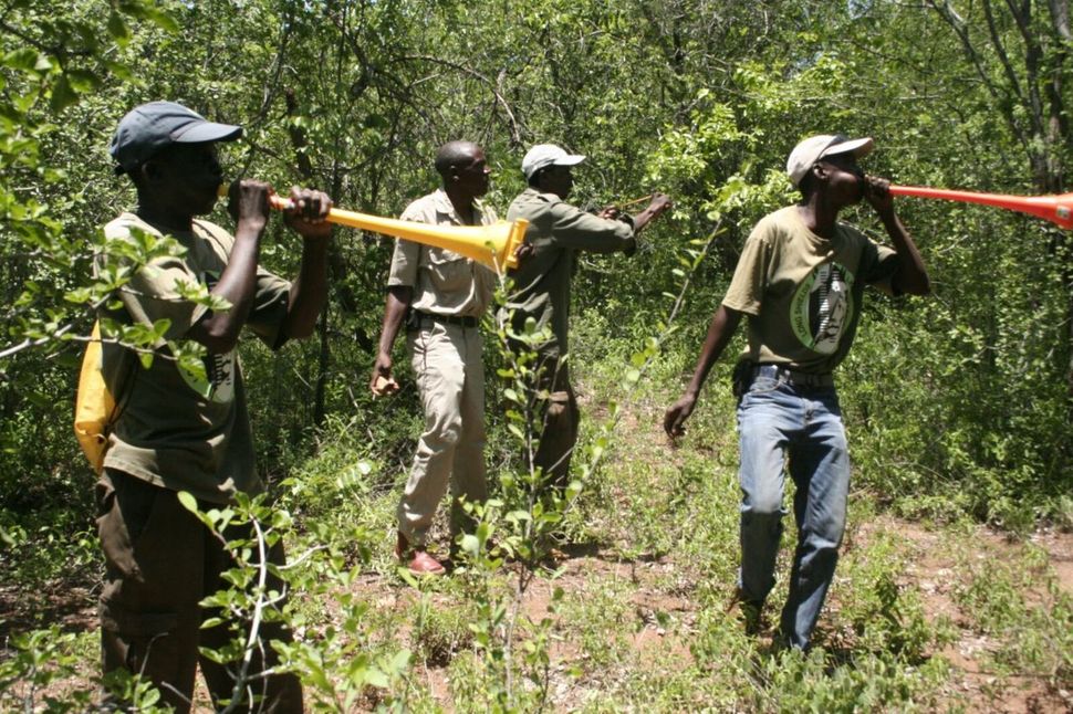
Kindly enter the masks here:
<path id="1" fill-rule="evenodd" d="M 670 199 L 654 195 L 648 207 L 637 216 L 622 217 L 614 208 L 600 216 L 586 213 L 565 202 L 573 187 L 571 167 L 584 156 L 566 154 L 553 144 L 539 144 L 522 159 L 522 172 L 529 182 L 510 204 L 507 220 L 525 219 L 529 229 L 525 243 L 532 252 L 510 272 L 514 293 L 507 304 L 512 332 L 521 334 L 525 321 L 535 319 L 536 328 L 548 327 L 551 338 L 533 346 L 538 353 L 538 378 L 534 392 L 548 390 L 550 396 L 536 411 L 541 414 L 540 445 L 534 465 L 543 470 L 544 483 L 566 486 L 570 458 L 577 441 L 577 400 L 570 384 L 566 357 L 570 351 L 566 335 L 570 318 L 570 279 L 574 253 L 614 253 L 633 255 L 637 248 L 635 235 L 654 218 L 670 207 Z M 514 340 L 512 349 L 528 350 L 530 346 Z"/>

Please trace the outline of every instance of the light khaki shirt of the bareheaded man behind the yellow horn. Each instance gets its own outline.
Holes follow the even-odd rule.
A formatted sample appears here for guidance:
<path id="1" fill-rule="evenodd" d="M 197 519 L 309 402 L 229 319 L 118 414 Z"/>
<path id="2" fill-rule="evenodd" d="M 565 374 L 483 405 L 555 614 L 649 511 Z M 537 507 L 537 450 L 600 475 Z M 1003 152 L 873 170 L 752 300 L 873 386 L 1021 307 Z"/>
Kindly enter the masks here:
<path id="1" fill-rule="evenodd" d="M 463 225 L 444 189 L 417 199 L 399 218 L 429 225 Z M 477 225 L 489 225 L 496 222 L 496 212 L 473 201 L 473 218 Z M 423 313 L 480 318 L 492 300 L 496 273 L 446 248 L 397 239 L 387 284 L 413 287 L 410 305 Z"/>

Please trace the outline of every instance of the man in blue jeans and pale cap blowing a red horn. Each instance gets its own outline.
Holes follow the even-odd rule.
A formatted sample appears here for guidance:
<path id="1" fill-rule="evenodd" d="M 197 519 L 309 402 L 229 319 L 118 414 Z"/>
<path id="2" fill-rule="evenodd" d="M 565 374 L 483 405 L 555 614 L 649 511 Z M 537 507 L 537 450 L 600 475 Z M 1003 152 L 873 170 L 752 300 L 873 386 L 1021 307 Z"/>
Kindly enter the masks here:
<path id="1" fill-rule="evenodd" d="M 737 599 L 747 629 L 757 630 L 774 586 L 786 465 L 799 536 L 780 630 L 800 649 L 809 645 L 845 529 L 850 459 L 832 370 L 853 343 L 866 284 L 894 294 L 930 290 L 889 183 L 857 166 L 872 146 L 869 138 L 821 135 L 793 149 L 786 172 L 802 200 L 768 214 L 749 235 L 692 379 L 664 417 L 668 434 L 683 432 L 712 364 L 748 315 L 749 344 L 735 370 L 742 492 Z M 838 212 L 862 198 L 893 250 L 838 222 Z"/>

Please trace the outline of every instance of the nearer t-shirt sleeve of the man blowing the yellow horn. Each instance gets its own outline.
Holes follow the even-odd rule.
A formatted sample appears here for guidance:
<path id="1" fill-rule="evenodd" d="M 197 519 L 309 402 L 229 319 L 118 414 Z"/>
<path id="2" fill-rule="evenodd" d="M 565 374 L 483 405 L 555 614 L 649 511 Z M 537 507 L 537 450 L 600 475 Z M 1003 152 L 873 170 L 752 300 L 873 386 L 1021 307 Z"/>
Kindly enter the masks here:
<path id="1" fill-rule="evenodd" d="M 132 241 L 131 230 L 128 224 L 113 222 L 106 229 L 106 237 L 110 241 Z M 135 271 L 129 282 L 118 288 L 117 297 L 135 324 L 149 326 L 160 319 L 169 322 L 164 339 L 157 345 L 162 347 L 164 340 L 181 339 L 208 312 L 208 307 L 191 302 L 179 292 L 181 285 L 197 282 L 197 274 L 183 256 L 168 255 Z"/>

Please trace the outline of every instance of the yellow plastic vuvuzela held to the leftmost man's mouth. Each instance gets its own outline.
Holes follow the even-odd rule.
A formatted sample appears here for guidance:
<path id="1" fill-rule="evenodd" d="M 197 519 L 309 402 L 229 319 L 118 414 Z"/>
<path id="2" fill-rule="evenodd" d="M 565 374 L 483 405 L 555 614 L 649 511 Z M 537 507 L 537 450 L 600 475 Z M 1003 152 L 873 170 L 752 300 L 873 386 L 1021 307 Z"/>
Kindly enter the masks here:
<path id="1" fill-rule="evenodd" d="M 227 196 L 227 185 L 221 186 L 220 196 Z M 285 210 L 291 203 L 290 199 L 281 196 L 271 196 L 269 201 L 277 210 Z M 423 245 L 446 248 L 488 265 L 496 272 L 518 266 L 514 250 L 525 239 L 525 229 L 529 227 L 529 221 L 525 220 L 517 220 L 513 223 L 499 221 L 492 225 L 429 225 L 337 208 L 329 211 L 327 220 L 340 225 L 403 238 Z"/>

